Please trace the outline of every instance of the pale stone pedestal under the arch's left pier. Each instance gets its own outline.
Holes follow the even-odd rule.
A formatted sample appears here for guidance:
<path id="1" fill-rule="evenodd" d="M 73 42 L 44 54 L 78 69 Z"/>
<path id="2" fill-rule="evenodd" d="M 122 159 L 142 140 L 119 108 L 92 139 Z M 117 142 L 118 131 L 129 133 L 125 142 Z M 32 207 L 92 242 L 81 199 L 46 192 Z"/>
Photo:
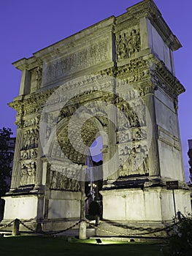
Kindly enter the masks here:
<path id="1" fill-rule="evenodd" d="M 25 220 L 32 230 L 64 230 L 80 220 L 80 192 L 51 191 L 49 199 L 41 195 L 15 195 L 4 197 L 4 224 L 13 219 Z M 12 230 L 9 227 L 7 230 Z M 26 227 L 20 225 L 20 230 Z"/>

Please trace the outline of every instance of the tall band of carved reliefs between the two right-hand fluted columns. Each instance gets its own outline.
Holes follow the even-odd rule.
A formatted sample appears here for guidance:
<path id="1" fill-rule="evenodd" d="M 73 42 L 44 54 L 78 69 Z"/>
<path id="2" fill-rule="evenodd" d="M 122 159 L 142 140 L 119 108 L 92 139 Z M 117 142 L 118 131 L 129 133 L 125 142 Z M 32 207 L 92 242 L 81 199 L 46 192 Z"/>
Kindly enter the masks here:
<path id="1" fill-rule="evenodd" d="M 121 96 L 121 97 L 120 97 Z M 118 110 L 119 177 L 149 173 L 145 104 L 139 91 L 130 89 L 115 100 Z"/>

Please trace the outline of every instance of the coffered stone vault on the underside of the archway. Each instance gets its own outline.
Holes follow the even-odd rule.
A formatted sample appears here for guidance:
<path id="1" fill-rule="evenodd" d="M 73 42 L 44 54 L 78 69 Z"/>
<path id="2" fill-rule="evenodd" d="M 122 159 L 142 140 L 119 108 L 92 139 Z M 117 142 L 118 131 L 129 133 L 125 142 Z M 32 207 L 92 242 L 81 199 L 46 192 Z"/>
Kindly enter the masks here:
<path id="1" fill-rule="evenodd" d="M 63 118 L 58 122 L 56 138 L 50 139 L 48 152 L 50 165 L 70 165 L 77 169 L 78 166 L 85 166 L 85 159 L 91 154 L 89 148 L 99 135 L 101 135 L 103 146 L 107 145 L 106 128 L 99 118 L 93 116 L 89 119 L 86 114 L 84 117 L 87 120 L 82 125 L 82 129 L 78 126 L 78 121 L 76 126 L 73 127 L 71 141 L 68 131 L 69 119 Z M 80 176 L 74 178 L 78 180 Z"/>

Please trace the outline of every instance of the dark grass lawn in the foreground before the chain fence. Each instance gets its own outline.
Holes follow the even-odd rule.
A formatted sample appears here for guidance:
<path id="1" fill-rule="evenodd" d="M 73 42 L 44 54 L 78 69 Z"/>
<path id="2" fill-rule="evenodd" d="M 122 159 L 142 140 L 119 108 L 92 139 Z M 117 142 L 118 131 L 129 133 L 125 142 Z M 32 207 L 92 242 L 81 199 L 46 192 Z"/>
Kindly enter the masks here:
<path id="1" fill-rule="evenodd" d="M 80 241 L 72 239 L 66 241 L 66 238 L 50 238 L 36 236 L 15 236 L 0 238 L 1 256 L 60 256 L 60 255 L 78 255 L 78 256 L 163 256 L 161 244 L 147 243 L 127 243 L 113 242 L 107 244 L 91 244 L 91 240 Z"/>

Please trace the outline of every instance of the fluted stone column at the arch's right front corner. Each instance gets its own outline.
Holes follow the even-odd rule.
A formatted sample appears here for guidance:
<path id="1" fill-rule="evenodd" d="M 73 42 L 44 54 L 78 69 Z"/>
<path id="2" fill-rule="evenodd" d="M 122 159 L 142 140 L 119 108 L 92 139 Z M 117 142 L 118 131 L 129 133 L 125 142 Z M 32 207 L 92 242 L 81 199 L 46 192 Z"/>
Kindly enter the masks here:
<path id="1" fill-rule="evenodd" d="M 146 123 L 147 123 L 147 141 L 148 141 L 148 163 L 149 176 L 159 176 L 159 154 L 158 154 L 158 129 L 155 116 L 155 100 L 154 100 L 155 86 L 153 83 L 146 84 L 143 88 L 145 94 Z"/>

